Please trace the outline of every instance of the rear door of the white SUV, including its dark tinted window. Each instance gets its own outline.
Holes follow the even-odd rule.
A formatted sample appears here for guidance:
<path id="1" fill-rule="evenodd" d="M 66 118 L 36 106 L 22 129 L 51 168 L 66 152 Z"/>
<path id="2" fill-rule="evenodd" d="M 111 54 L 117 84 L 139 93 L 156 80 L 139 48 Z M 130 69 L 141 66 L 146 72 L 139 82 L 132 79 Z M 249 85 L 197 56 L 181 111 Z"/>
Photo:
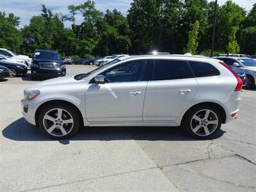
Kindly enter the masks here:
<path id="1" fill-rule="evenodd" d="M 157 60 L 148 81 L 143 121 L 173 121 L 189 105 L 197 82 L 187 61 Z"/>

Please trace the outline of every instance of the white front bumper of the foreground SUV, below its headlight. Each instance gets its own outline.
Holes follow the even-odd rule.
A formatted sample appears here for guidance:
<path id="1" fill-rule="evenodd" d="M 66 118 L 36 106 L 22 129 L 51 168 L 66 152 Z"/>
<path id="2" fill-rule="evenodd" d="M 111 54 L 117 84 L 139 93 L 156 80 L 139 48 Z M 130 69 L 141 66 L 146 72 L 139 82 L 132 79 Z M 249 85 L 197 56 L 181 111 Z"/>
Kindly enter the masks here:
<path id="1" fill-rule="evenodd" d="M 20 100 L 20 105 L 22 109 L 22 115 L 26 121 L 29 122 L 29 124 L 36 125 L 33 101 L 22 99 Z"/>

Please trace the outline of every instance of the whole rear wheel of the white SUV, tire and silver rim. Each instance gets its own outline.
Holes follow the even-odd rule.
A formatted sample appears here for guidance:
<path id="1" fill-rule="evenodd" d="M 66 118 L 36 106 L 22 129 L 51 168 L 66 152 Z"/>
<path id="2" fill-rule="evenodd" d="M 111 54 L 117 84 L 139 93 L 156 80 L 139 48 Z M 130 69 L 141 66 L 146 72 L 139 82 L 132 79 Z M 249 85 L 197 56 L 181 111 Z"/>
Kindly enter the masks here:
<path id="1" fill-rule="evenodd" d="M 182 127 L 191 136 L 211 138 L 221 127 L 220 111 L 212 106 L 196 106 L 189 109 L 182 120 Z"/>

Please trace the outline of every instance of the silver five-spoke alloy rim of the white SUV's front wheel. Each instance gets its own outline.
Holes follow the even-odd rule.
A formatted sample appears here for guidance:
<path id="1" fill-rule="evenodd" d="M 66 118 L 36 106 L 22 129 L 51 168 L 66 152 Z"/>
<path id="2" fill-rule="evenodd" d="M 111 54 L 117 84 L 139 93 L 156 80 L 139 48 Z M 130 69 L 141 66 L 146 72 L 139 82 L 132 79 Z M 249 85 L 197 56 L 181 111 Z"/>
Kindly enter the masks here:
<path id="1" fill-rule="evenodd" d="M 52 136 L 65 136 L 74 127 L 74 119 L 68 111 L 54 108 L 45 113 L 43 118 L 44 129 Z"/>

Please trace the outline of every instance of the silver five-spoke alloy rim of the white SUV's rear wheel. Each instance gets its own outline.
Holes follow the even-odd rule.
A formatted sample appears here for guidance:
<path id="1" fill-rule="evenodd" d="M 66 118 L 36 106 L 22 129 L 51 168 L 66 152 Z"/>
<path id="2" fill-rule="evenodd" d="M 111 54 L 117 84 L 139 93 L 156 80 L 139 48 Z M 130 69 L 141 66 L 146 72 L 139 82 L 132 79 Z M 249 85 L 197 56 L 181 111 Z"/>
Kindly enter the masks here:
<path id="1" fill-rule="evenodd" d="M 218 116 L 210 109 L 197 111 L 191 118 L 191 130 L 198 136 L 209 136 L 218 127 Z"/>

